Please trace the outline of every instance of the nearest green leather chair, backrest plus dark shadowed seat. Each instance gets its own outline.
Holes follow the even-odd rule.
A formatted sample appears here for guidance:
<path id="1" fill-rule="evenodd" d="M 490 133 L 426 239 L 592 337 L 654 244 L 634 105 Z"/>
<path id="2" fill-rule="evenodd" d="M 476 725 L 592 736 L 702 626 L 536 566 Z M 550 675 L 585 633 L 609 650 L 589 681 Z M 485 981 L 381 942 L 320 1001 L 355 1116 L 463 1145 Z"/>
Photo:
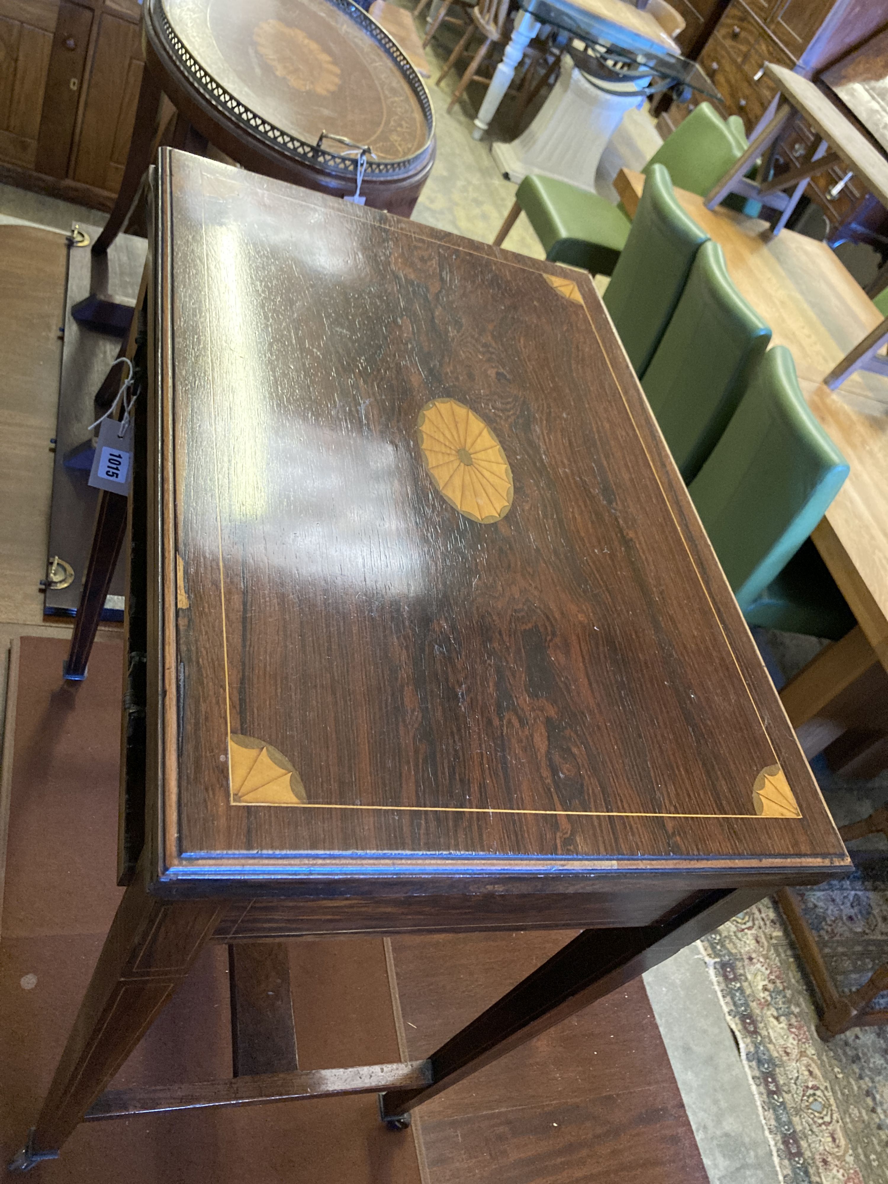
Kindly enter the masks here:
<path id="1" fill-rule="evenodd" d="M 854 616 L 809 535 L 848 476 L 776 346 L 689 493 L 751 625 L 837 641 Z"/>

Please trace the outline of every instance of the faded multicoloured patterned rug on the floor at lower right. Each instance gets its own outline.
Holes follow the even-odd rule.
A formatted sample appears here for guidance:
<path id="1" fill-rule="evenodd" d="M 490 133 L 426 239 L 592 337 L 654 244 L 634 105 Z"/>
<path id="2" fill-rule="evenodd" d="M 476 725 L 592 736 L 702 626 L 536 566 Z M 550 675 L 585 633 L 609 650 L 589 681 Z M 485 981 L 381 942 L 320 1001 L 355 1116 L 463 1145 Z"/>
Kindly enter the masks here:
<path id="1" fill-rule="evenodd" d="M 841 991 L 888 958 L 884 866 L 809 889 L 803 909 Z M 771 901 L 700 945 L 784 1184 L 888 1184 L 888 1027 L 819 1040 L 813 987 Z"/>

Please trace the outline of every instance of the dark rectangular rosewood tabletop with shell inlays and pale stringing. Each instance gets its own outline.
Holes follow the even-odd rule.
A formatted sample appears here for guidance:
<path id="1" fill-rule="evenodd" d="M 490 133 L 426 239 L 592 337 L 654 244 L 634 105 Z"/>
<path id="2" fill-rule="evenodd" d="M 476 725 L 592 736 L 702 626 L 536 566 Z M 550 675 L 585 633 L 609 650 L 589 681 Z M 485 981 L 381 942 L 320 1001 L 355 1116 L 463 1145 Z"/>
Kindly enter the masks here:
<path id="1" fill-rule="evenodd" d="M 587 277 L 169 150 L 155 202 L 170 890 L 844 862 Z"/>

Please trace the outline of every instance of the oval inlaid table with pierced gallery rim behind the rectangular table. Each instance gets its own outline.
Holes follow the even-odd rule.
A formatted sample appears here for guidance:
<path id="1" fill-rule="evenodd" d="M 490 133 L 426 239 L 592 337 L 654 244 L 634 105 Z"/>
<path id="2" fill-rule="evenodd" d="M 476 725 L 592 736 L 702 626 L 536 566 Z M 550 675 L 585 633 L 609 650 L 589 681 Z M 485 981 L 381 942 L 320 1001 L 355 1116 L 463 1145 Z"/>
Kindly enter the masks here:
<path id="1" fill-rule="evenodd" d="M 279 11 L 146 0 L 133 140 L 95 252 L 108 250 L 139 197 L 163 95 L 244 168 L 334 197 L 355 193 L 358 149 L 367 146 L 366 204 L 410 217 L 435 161 L 435 121 L 416 70 L 350 0 L 289 0 L 287 21 Z"/>

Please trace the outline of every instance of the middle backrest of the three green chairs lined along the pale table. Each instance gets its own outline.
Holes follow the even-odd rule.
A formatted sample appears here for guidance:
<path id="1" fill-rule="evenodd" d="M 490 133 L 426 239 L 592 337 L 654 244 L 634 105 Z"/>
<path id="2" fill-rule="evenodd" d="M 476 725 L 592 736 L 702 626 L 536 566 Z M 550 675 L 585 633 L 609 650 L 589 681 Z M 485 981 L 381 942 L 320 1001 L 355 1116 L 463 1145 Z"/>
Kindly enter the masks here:
<path id="1" fill-rule="evenodd" d="M 770 341 L 771 329 L 728 276 L 722 249 L 703 243 L 642 382 L 686 481 L 718 444 Z"/>

